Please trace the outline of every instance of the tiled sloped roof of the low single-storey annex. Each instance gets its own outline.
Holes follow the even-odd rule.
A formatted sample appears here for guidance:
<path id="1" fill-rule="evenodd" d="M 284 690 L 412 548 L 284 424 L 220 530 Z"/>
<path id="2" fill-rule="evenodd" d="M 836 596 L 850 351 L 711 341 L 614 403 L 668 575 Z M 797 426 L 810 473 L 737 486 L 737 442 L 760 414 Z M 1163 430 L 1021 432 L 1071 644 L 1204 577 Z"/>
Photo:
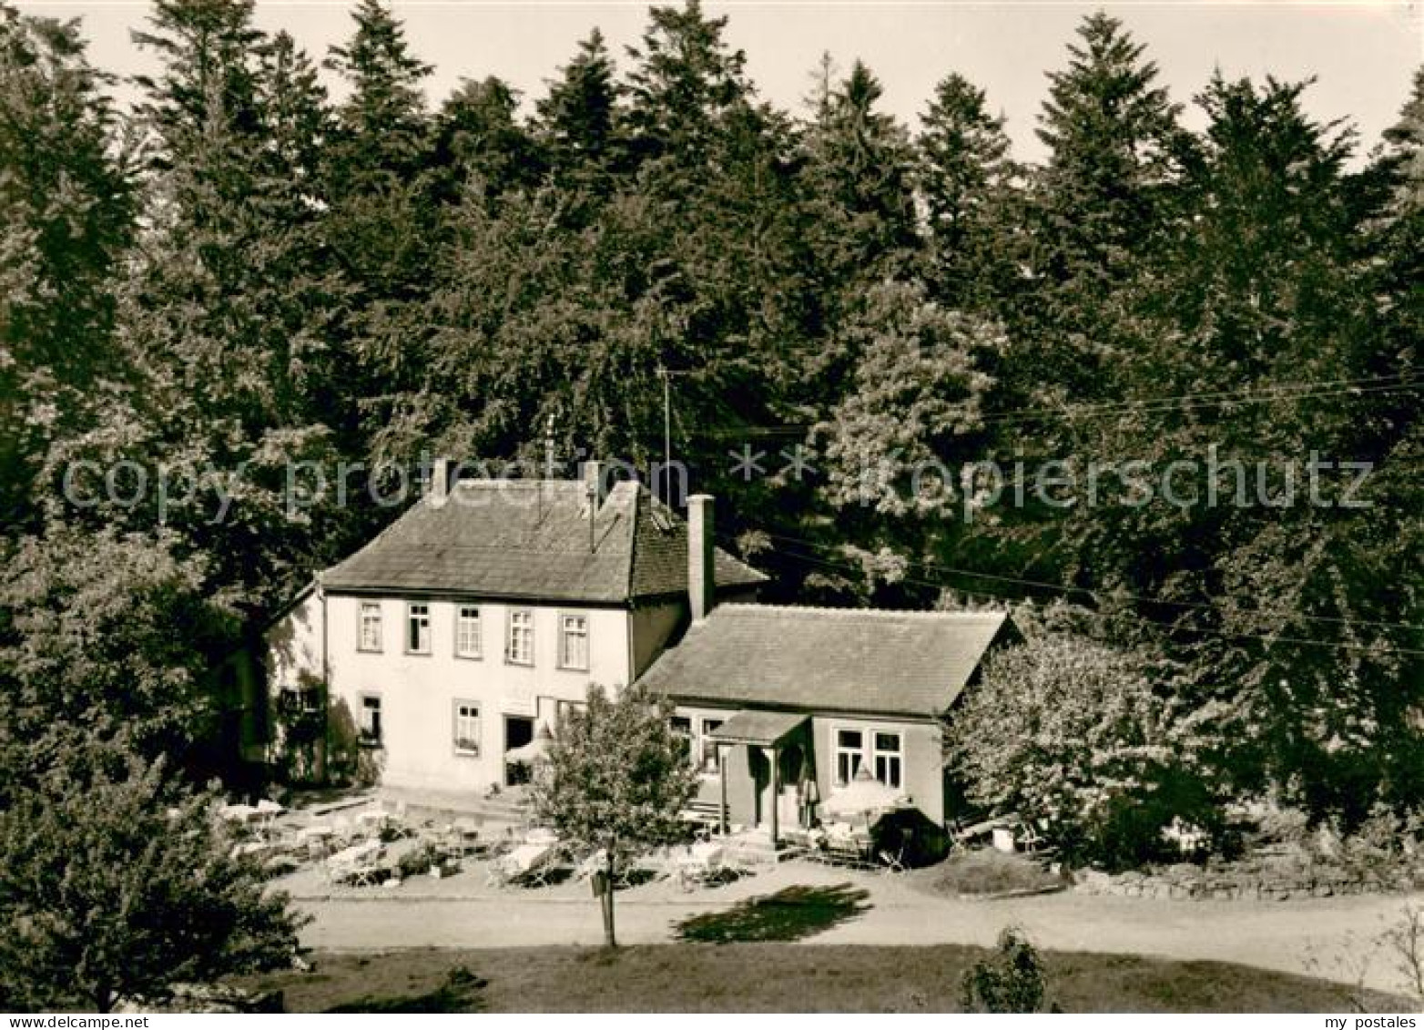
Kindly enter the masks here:
<path id="1" fill-rule="evenodd" d="M 1010 637 L 1001 611 L 722 604 L 642 681 L 688 701 L 933 717 Z"/>

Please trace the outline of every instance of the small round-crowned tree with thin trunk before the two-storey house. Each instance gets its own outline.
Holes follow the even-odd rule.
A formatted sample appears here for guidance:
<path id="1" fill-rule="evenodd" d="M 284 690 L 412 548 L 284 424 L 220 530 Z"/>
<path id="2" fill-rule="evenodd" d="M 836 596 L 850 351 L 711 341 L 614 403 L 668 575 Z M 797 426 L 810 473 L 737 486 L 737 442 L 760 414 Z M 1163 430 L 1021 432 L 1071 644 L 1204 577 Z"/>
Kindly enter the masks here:
<path id="1" fill-rule="evenodd" d="M 671 728 L 672 705 L 639 687 L 609 698 L 588 691 L 588 707 L 558 724 L 534 776 L 534 809 L 575 848 L 601 850 L 604 942 L 614 935 L 614 879 L 639 849 L 678 841 L 678 812 L 696 791 L 696 771 Z"/>

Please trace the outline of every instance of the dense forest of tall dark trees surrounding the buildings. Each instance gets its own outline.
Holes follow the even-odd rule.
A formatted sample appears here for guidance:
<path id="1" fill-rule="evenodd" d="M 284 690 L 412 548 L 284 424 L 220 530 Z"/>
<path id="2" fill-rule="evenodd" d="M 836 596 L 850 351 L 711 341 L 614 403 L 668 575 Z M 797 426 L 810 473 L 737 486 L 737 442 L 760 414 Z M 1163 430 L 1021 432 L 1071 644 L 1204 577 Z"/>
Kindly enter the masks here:
<path id="1" fill-rule="evenodd" d="M 725 28 L 655 7 L 528 107 L 477 70 L 433 107 L 377 0 L 323 56 L 157 0 L 120 110 L 83 26 L 0 3 L 0 796 L 75 734 L 192 761 L 214 670 L 396 514 L 373 490 L 547 435 L 646 467 L 666 369 L 769 600 L 1020 605 L 1001 675 L 1091 709 L 1104 791 L 1148 755 L 1212 801 L 1424 801 L 1424 73 L 1358 140 L 1309 83 L 1172 97 L 1095 14 L 1024 164 L 951 68 L 917 125 L 859 61 L 786 111 Z M 974 464 L 1208 454 L 1247 503 L 995 503 Z M 372 472 L 290 504 L 340 462 Z"/>

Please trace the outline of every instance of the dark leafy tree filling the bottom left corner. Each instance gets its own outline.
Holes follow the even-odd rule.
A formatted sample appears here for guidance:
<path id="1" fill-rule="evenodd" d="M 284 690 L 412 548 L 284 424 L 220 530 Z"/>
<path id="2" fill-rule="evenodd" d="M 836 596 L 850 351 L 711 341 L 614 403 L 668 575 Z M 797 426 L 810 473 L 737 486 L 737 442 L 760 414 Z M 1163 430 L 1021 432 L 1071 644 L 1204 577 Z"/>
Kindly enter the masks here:
<path id="1" fill-rule="evenodd" d="M 292 960 L 300 917 L 232 856 L 216 796 L 70 742 L 0 812 L 0 1006 L 110 1011 Z"/>

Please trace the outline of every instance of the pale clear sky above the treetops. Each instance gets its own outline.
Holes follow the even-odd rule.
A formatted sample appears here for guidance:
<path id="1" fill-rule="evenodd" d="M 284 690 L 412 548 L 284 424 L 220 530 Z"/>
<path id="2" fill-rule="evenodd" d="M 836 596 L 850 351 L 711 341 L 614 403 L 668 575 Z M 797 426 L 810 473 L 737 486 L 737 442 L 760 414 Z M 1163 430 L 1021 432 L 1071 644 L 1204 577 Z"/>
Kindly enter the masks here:
<path id="1" fill-rule="evenodd" d="M 91 60 L 118 74 L 152 68 L 130 30 L 148 4 L 132 0 L 21 0 L 21 10 L 80 17 Z M 394 0 L 412 50 L 434 74 L 431 103 L 463 78 L 498 76 L 521 91 L 525 105 L 598 26 L 619 57 L 646 26 L 645 3 L 551 3 L 525 0 Z M 759 94 L 802 110 L 812 68 L 830 53 L 842 71 L 863 60 L 881 80 L 889 111 L 914 127 L 934 84 L 958 71 L 988 94 L 1008 118 L 1020 160 L 1038 160 L 1034 128 L 1047 94 L 1047 73 L 1064 67 L 1067 46 L 1084 14 L 1105 9 L 1148 47 L 1161 83 L 1186 105 L 1186 124 L 1203 120 L 1192 97 L 1219 67 L 1227 77 L 1282 80 L 1314 76 L 1306 94 L 1317 118 L 1351 121 L 1360 155 L 1378 142 L 1403 107 L 1414 70 L 1424 64 L 1424 0 L 740 0 L 713 3 L 709 14 L 731 19 L 728 40 L 746 51 Z M 325 56 L 352 30 L 350 4 L 340 0 L 258 0 L 259 27 L 286 28 L 313 56 Z M 330 83 L 333 93 L 337 84 Z M 128 95 L 120 91 L 120 100 Z"/>

